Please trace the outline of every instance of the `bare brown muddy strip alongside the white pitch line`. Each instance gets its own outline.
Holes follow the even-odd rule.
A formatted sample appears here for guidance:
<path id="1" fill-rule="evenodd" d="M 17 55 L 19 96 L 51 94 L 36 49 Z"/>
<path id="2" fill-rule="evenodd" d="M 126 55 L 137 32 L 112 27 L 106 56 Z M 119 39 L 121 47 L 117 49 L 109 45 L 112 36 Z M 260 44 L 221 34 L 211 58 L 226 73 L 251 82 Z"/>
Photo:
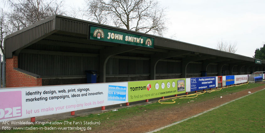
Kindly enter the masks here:
<path id="1" fill-rule="evenodd" d="M 264 82 L 262 82 L 264 84 Z M 202 102 L 190 102 L 185 106 L 175 106 L 172 108 L 162 110 L 147 110 L 149 115 L 142 113 L 133 118 L 122 119 L 112 127 L 100 127 L 100 129 L 93 129 L 89 132 L 109 132 L 109 133 L 143 133 L 158 129 L 160 127 L 172 124 L 176 121 L 197 115 L 206 110 L 222 105 L 231 100 L 235 100 L 242 96 L 248 95 L 248 91 L 256 92 L 264 89 L 265 86 L 242 90 L 233 94 L 222 95 L 223 98 L 215 98 Z M 154 117 L 155 116 L 155 117 Z"/>

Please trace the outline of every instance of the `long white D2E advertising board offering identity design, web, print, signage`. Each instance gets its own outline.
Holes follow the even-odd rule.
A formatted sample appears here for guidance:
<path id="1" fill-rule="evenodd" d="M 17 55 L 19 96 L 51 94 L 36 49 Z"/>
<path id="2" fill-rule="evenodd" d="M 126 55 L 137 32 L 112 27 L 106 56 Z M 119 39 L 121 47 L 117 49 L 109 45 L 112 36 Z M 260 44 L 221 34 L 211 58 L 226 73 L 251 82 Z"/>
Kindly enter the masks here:
<path id="1" fill-rule="evenodd" d="M 0 122 L 128 102 L 128 82 L 0 89 Z"/>

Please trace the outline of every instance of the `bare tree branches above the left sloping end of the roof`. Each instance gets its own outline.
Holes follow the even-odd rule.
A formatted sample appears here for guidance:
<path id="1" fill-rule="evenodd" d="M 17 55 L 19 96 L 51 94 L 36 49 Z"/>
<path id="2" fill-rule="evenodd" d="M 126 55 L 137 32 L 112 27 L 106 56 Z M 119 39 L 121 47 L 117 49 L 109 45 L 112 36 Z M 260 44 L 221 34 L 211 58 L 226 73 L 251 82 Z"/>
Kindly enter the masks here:
<path id="1" fill-rule="evenodd" d="M 20 30 L 55 14 L 64 14 L 62 1 L 56 0 L 8 0 L 12 8 L 9 23 Z"/>

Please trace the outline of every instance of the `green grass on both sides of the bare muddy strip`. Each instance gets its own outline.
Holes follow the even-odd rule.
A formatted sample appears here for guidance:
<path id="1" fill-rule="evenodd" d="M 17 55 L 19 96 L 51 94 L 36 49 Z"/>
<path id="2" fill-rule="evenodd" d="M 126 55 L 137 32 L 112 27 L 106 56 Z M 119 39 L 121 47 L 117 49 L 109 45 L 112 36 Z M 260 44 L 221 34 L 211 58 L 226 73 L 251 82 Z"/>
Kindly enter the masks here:
<path id="1" fill-rule="evenodd" d="M 139 105 L 119 109 L 118 111 L 105 112 L 98 114 L 90 114 L 82 117 L 72 117 L 65 120 L 57 120 L 57 122 L 64 121 L 100 121 L 100 125 L 84 125 L 84 124 L 66 124 L 66 125 L 29 125 L 26 127 L 38 127 L 41 130 L 0 130 L 0 132 L 7 133 L 67 133 L 67 132 L 80 132 L 81 130 L 59 130 L 58 128 L 64 127 L 91 127 L 90 131 L 98 132 L 103 129 L 108 129 L 109 127 L 115 127 L 117 123 L 113 121 L 125 120 L 128 118 L 133 118 L 135 116 L 145 115 L 148 110 L 161 111 L 162 109 L 171 108 L 173 106 L 186 106 L 187 102 L 190 100 L 195 100 L 196 102 L 210 100 L 213 98 L 220 98 L 220 96 L 227 95 L 230 93 L 238 92 L 241 90 L 246 90 L 254 87 L 258 87 L 264 84 L 246 84 L 231 88 L 226 88 L 221 91 L 216 91 L 213 93 L 206 93 L 199 95 L 196 98 L 188 99 L 178 99 L 175 104 L 160 104 L 154 103 L 150 105 Z M 264 131 L 264 93 L 265 90 L 258 92 L 256 94 L 247 96 L 241 100 L 237 100 L 228 105 L 222 106 L 216 110 L 210 111 L 204 115 L 198 116 L 196 118 L 187 120 L 178 125 L 172 126 L 160 132 L 265 132 Z M 169 101 L 169 100 L 168 100 Z M 147 110 L 147 111 L 146 111 Z M 57 130 L 43 130 L 45 127 L 55 127 Z M 13 129 L 13 128 L 12 128 Z M 89 130 L 85 130 L 86 132 Z M 137 132 L 137 131 L 135 131 Z"/>

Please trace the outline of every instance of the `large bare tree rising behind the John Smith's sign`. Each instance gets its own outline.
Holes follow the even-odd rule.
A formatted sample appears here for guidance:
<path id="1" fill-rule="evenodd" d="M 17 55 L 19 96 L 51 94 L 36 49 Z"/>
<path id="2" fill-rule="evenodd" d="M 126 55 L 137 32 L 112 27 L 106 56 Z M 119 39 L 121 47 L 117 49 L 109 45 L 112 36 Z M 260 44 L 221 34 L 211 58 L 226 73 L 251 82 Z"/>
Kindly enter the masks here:
<path id="1" fill-rule="evenodd" d="M 94 22 L 112 22 L 119 28 L 160 36 L 166 30 L 165 8 L 156 0 L 86 0 L 86 3 L 86 11 Z"/>

